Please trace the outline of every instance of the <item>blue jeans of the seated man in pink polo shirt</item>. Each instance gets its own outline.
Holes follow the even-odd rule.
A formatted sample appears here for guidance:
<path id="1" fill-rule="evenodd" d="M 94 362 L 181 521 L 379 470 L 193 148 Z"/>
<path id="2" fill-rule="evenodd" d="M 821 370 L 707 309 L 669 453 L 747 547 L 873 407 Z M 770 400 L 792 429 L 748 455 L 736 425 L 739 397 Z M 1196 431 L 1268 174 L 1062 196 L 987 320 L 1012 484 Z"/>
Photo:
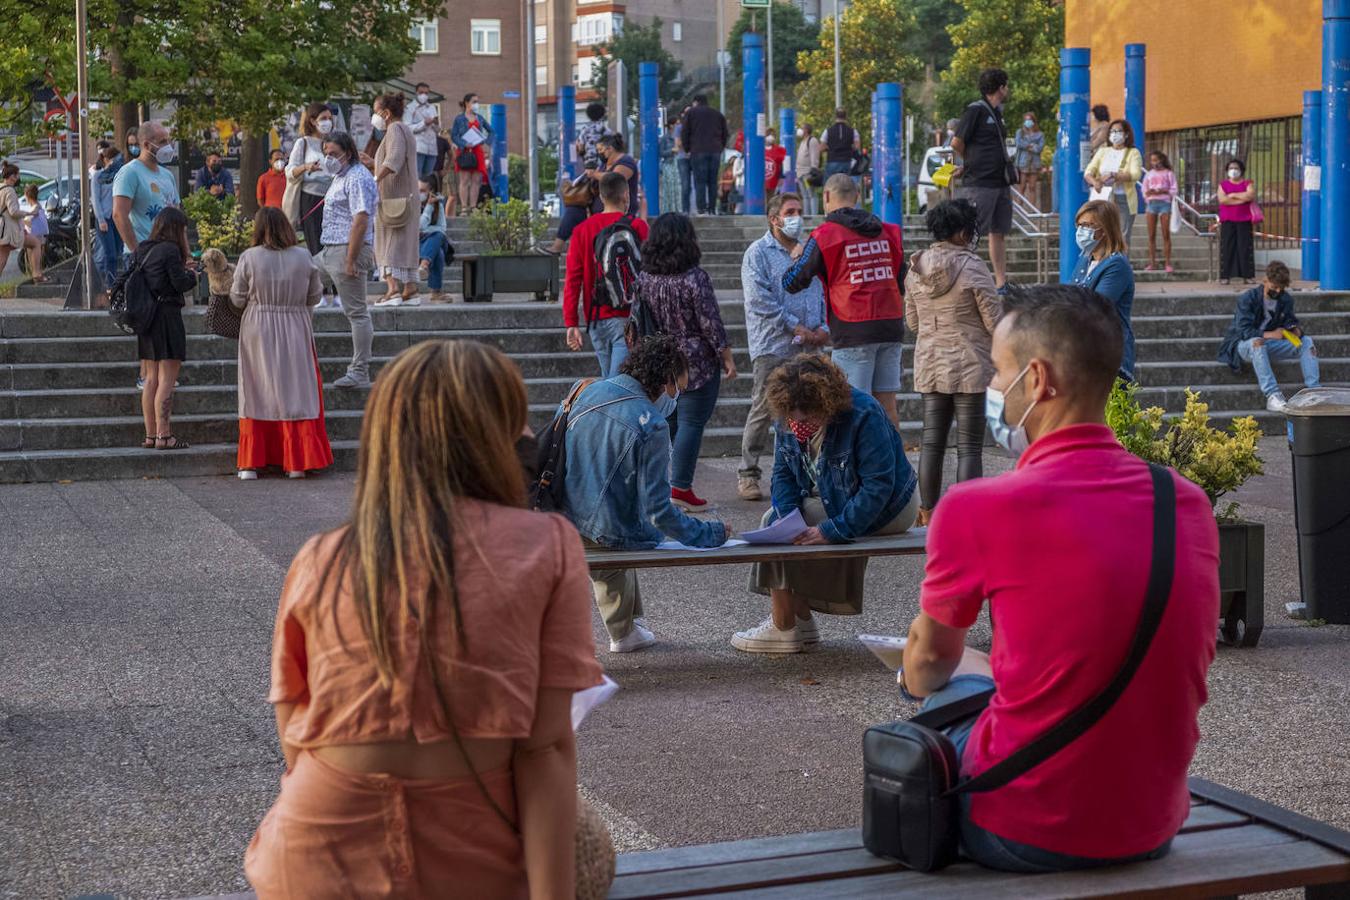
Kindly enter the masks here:
<path id="1" fill-rule="evenodd" d="M 921 712 L 964 700 L 968 696 L 988 691 L 994 687 L 994 679 L 987 675 L 957 675 L 948 681 L 941 691 L 936 691 L 923 700 Z M 956 746 L 956 756 L 965 753 L 965 745 L 971 738 L 971 729 L 979 716 L 971 716 L 956 725 L 944 729 L 946 737 Z M 1156 850 L 1141 853 L 1133 857 L 1118 860 L 1095 860 L 1091 857 L 1075 857 L 1066 853 L 1042 850 L 1029 843 L 1019 843 L 1000 838 L 992 831 L 987 831 L 971 820 L 971 795 L 961 795 L 961 854 L 990 869 L 1000 872 L 1021 872 L 1026 874 L 1040 874 L 1046 872 L 1069 872 L 1073 869 L 1096 869 L 1100 866 L 1123 865 L 1126 862 L 1143 862 L 1145 860 L 1161 860 L 1172 849 L 1170 838 Z"/>

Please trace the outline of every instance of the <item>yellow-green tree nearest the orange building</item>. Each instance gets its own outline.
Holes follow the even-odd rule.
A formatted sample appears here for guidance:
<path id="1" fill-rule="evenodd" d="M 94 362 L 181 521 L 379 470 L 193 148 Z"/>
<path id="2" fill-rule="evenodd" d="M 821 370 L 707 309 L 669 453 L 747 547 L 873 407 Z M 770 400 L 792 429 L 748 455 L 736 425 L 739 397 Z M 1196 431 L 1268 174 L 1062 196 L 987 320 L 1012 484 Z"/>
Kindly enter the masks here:
<path id="1" fill-rule="evenodd" d="M 948 28 L 956 54 L 942 73 L 938 111 L 957 117 L 979 99 L 981 69 L 1008 73 L 1010 119 L 1031 111 L 1042 128 L 1060 109 L 1064 5 L 1056 0 L 960 0 L 965 19 Z M 1011 128 L 1010 128 L 1011 131 Z"/>

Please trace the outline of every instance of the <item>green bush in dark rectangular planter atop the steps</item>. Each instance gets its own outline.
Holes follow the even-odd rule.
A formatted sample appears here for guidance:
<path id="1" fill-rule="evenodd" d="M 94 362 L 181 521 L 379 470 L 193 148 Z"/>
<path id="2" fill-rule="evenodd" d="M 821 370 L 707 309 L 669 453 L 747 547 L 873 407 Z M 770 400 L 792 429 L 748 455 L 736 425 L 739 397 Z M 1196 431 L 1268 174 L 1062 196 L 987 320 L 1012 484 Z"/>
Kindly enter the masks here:
<path id="1" fill-rule="evenodd" d="M 468 215 L 468 239 L 481 242 L 478 256 L 463 258 L 464 300 L 491 300 L 495 291 L 558 300 L 558 258 L 535 251 L 548 220 L 524 200 L 489 201 Z"/>

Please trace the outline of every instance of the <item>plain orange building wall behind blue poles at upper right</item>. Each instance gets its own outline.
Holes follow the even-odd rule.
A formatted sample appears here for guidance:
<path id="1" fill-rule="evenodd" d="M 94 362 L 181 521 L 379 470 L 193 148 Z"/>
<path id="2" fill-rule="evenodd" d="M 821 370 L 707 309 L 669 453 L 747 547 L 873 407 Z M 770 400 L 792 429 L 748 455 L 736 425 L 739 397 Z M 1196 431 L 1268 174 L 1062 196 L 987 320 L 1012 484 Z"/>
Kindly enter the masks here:
<path id="1" fill-rule="evenodd" d="M 1092 49 L 1092 103 L 1114 117 L 1125 45 L 1148 45 L 1149 131 L 1297 116 L 1320 88 L 1322 0 L 1066 0 L 1064 31 Z"/>

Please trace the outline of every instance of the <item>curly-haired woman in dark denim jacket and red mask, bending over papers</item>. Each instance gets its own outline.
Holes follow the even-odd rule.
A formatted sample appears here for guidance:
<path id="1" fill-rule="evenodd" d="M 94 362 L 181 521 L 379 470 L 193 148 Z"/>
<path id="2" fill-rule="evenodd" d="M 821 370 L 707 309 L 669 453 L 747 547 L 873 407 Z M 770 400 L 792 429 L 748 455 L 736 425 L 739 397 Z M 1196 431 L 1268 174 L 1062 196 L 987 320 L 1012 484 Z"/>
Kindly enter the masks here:
<path id="1" fill-rule="evenodd" d="M 801 510 L 810 526 L 796 544 L 845 544 L 907 532 L 918 517 L 918 478 L 882 405 L 849 387 L 830 360 L 802 355 L 768 376 L 774 433 L 774 509 L 764 524 Z M 751 590 L 768 594 L 771 615 L 737 631 L 747 653 L 801 653 L 821 642 L 811 613 L 863 611 L 867 557 L 761 563 Z"/>

